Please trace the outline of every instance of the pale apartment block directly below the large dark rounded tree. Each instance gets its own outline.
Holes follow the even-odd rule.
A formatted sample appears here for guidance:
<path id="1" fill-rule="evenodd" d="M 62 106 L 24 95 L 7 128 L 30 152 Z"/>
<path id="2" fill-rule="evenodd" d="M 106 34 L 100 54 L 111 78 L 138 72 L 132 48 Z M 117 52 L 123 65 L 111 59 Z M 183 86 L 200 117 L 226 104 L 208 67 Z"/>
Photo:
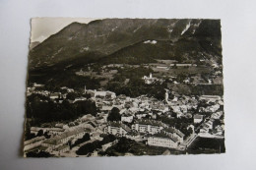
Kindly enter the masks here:
<path id="1" fill-rule="evenodd" d="M 114 136 L 126 136 L 129 132 L 131 132 L 131 129 L 128 126 L 117 122 L 110 122 L 104 128 L 105 134 L 112 134 Z"/>

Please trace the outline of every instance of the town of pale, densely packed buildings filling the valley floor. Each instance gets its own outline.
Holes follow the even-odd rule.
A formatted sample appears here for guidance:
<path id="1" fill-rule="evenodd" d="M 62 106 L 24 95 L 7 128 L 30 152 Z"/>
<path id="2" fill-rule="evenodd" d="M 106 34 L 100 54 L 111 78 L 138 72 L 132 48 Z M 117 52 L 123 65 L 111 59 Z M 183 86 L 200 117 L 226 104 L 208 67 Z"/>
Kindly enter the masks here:
<path id="1" fill-rule="evenodd" d="M 145 84 L 162 81 L 153 74 L 142 80 Z M 36 83 L 28 86 L 28 97 L 34 95 L 40 103 L 56 105 L 90 101 L 96 112 L 82 114 L 71 122 L 27 126 L 30 138 L 25 142 L 25 156 L 141 155 L 151 154 L 147 148 L 154 147 L 170 154 L 170 150 L 186 152 L 199 137 L 224 139 L 224 101 L 219 95 L 180 95 L 165 89 L 160 100 L 147 95 L 116 95 L 86 86 L 81 95 L 75 96 L 72 94 L 77 91 L 67 86 L 58 92 L 43 87 Z M 132 142 L 131 147 L 140 143 L 143 152 L 116 148 L 119 142 Z"/>

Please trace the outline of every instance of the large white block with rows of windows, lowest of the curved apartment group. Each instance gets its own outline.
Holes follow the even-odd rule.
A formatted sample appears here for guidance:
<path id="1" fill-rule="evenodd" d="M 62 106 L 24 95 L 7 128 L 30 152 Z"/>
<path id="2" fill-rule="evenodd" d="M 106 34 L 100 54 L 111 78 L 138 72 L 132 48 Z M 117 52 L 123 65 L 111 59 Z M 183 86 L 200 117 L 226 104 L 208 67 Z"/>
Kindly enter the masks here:
<path id="1" fill-rule="evenodd" d="M 147 144 L 160 147 L 177 148 L 178 140 L 172 136 L 158 133 L 153 135 L 152 137 L 149 137 L 147 140 Z"/>

